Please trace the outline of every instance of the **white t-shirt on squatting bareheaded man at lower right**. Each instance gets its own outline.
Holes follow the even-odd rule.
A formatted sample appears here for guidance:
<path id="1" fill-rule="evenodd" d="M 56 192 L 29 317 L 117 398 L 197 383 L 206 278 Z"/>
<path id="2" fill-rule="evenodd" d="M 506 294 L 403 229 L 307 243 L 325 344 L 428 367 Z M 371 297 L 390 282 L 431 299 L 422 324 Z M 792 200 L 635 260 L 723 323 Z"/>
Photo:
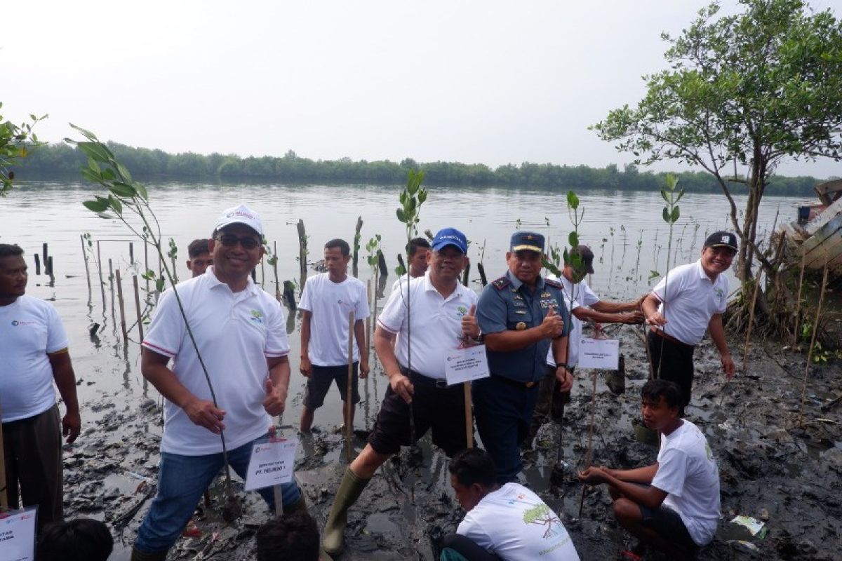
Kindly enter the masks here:
<path id="1" fill-rule="evenodd" d="M 719 469 L 699 427 L 682 421 L 661 435 L 652 486 L 668 493 L 663 505 L 679 513 L 696 544 L 711 542 L 719 520 Z"/>

